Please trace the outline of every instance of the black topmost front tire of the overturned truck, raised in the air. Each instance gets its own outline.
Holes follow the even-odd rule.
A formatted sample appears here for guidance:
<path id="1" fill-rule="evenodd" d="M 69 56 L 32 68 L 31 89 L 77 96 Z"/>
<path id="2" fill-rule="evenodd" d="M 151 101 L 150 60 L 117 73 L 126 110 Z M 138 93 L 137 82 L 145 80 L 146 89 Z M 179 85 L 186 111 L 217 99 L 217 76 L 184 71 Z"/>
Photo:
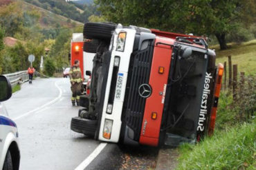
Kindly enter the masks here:
<path id="1" fill-rule="evenodd" d="M 115 29 L 116 24 L 113 23 L 84 23 L 84 38 L 110 41 L 111 32 Z"/>

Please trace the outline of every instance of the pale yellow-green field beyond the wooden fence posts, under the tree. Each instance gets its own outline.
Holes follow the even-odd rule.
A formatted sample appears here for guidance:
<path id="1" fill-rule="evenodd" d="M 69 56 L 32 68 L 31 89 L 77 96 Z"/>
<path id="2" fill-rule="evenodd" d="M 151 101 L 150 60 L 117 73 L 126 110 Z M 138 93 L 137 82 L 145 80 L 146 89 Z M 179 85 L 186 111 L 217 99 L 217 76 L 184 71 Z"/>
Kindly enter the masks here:
<path id="1" fill-rule="evenodd" d="M 246 75 L 256 74 L 256 39 L 241 45 L 230 44 L 228 50 L 219 50 L 216 45 L 211 48 L 216 49 L 217 63 L 228 61 L 228 55 L 231 55 L 232 64 L 238 65 L 238 72 L 246 72 Z"/>

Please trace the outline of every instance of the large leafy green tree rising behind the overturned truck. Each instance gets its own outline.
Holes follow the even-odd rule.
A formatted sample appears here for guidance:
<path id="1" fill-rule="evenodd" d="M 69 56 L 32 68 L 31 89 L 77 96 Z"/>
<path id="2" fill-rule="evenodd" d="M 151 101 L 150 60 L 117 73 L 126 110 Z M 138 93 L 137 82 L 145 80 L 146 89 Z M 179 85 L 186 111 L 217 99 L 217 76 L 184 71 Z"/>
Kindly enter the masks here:
<path id="1" fill-rule="evenodd" d="M 95 0 L 108 21 L 175 32 L 214 34 L 222 50 L 237 23 L 255 22 L 255 0 Z"/>

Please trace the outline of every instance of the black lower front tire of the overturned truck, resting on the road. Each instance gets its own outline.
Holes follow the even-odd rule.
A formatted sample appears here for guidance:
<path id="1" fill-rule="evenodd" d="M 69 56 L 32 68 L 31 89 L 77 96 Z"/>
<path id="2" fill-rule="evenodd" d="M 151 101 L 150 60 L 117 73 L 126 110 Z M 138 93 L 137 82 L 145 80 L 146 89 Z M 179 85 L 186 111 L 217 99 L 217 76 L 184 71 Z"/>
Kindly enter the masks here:
<path id="1" fill-rule="evenodd" d="M 98 120 L 90 120 L 79 116 L 72 118 L 71 130 L 93 137 L 97 128 Z"/>

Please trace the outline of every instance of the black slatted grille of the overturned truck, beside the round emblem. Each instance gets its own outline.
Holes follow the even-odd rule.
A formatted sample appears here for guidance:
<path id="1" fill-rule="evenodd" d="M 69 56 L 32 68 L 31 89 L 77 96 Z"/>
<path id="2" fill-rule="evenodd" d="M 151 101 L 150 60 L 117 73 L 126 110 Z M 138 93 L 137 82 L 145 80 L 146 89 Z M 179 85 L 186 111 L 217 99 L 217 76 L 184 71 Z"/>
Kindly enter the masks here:
<path id="1" fill-rule="evenodd" d="M 129 65 L 127 89 L 125 94 L 125 123 L 134 130 L 134 140 L 140 137 L 146 98 L 140 97 L 138 88 L 149 83 L 149 76 L 154 51 L 154 42 L 151 41 L 145 50 L 134 52 Z"/>

